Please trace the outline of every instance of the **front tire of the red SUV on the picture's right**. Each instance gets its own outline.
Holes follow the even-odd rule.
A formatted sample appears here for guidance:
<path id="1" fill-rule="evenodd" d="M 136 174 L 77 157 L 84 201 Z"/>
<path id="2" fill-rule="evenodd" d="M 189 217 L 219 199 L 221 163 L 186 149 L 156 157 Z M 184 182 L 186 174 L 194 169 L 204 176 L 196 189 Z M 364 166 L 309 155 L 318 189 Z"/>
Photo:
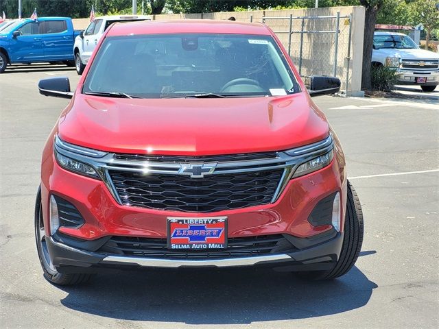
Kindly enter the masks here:
<path id="1" fill-rule="evenodd" d="M 297 273 L 307 280 L 330 280 L 348 273 L 358 258 L 363 244 L 363 212 L 355 189 L 348 181 L 348 199 L 344 221 L 344 239 L 340 258 L 333 269 L 327 271 L 304 271 Z"/>

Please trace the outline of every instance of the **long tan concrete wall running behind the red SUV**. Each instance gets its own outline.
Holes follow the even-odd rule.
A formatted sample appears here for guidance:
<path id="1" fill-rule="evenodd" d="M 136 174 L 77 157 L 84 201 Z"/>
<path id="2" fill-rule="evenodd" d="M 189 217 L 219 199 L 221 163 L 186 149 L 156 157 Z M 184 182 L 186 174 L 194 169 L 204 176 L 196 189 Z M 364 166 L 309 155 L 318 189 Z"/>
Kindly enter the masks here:
<path id="1" fill-rule="evenodd" d="M 285 49 L 288 50 L 289 16 L 340 16 L 352 14 L 352 21 L 340 19 L 336 75 L 342 80 L 342 89 L 346 90 L 346 77 L 348 77 L 347 90 L 349 95 L 361 95 L 361 68 L 363 60 L 363 34 L 364 34 L 364 7 L 333 7 L 333 8 L 311 8 L 297 10 L 259 10 L 249 12 L 213 12 L 203 14 L 161 14 L 152 15 L 152 19 L 175 20 L 175 19 L 228 19 L 235 17 L 242 22 L 262 22 L 263 18 L 285 17 L 285 19 L 265 19 L 265 23 L 278 35 Z M 300 32 L 301 20 L 293 20 L 293 32 Z M 85 29 L 88 19 L 74 19 L 75 29 Z M 351 60 L 347 70 L 349 27 L 351 26 Z M 335 31 L 335 19 L 307 19 L 305 20 L 305 31 Z M 302 39 L 302 66 L 301 75 L 333 75 L 335 63 L 335 34 L 303 34 Z M 300 49 L 300 33 L 292 34 L 290 56 L 298 66 Z M 347 75 L 348 73 L 348 75 Z"/>

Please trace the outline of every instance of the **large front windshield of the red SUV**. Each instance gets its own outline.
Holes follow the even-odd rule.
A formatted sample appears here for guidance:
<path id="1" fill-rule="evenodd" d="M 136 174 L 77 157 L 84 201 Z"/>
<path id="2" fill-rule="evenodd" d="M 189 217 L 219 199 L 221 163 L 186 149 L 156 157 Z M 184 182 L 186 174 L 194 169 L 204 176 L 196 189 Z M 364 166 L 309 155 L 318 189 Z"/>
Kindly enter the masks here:
<path id="1" fill-rule="evenodd" d="M 247 97 L 298 91 L 270 36 L 159 34 L 108 37 L 83 93 L 132 97 Z"/>

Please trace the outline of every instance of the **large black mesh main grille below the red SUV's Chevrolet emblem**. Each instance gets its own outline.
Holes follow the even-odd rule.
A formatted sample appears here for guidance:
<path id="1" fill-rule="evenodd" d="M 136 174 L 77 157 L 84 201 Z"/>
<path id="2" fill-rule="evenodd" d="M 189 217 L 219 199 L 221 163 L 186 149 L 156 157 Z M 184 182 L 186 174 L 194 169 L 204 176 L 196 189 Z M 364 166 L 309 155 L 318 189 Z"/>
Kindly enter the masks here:
<path id="1" fill-rule="evenodd" d="M 269 204 L 283 169 L 205 175 L 109 170 L 121 202 L 161 210 L 214 212 Z"/>

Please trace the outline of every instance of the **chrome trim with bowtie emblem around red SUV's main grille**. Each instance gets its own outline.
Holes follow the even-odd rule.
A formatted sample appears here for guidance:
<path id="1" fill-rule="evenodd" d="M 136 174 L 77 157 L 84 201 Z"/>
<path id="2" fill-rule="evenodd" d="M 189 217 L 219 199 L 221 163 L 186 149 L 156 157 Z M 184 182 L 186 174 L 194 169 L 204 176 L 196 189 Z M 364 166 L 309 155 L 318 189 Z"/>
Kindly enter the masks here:
<path id="1" fill-rule="evenodd" d="M 97 151 L 79 147 L 69 143 L 64 143 L 56 136 L 54 149 L 70 158 L 90 164 L 93 166 L 100 178 L 106 184 L 111 195 L 115 198 L 118 204 L 123 205 L 121 198 L 117 193 L 115 184 L 112 182 L 109 171 L 127 171 L 133 173 L 153 173 L 153 174 L 169 174 L 169 175 L 183 175 L 181 169 L 187 162 L 154 162 L 148 160 L 120 160 L 115 157 L 114 153 L 106 153 L 104 151 Z M 256 171 L 270 171 L 276 169 L 283 169 L 283 174 L 271 203 L 276 202 L 296 168 L 313 158 L 321 156 L 333 149 L 333 139 L 331 135 L 322 141 L 312 143 L 302 147 L 296 147 L 287 151 L 277 151 L 274 158 L 261 158 L 259 160 L 241 160 L 241 161 L 227 161 L 227 162 L 205 162 L 200 158 L 193 158 L 191 164 L 215 164 L 215 169 L 204 175 L 221 175 L 234 173 L 250 173 Z M 233 155 L 232 155 L 233 156 Z M 162 156 L 165 157 L 165 156 Z M 193 178 L 193 180 L 200 180 L 202 178 Z"/>

